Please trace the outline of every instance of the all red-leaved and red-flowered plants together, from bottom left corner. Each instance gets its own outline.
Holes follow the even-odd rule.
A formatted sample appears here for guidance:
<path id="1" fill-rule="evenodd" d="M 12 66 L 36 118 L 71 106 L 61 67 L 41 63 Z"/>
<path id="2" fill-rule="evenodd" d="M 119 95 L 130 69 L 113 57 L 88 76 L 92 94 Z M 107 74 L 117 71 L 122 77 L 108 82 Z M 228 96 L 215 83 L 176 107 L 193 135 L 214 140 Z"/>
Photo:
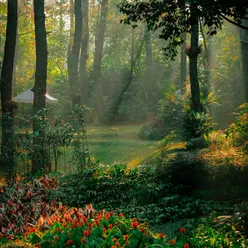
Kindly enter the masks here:
<path id="1" fill-rule="evenodd" d="M 1 187 L 1 247 L 184 247 L 187 238 L 168 240 L 154 234 L 146 222 L 122 213 L 96 211 L 92 205 L 67 208 L 47 199 L 58 186 L 55 178 Z"/>

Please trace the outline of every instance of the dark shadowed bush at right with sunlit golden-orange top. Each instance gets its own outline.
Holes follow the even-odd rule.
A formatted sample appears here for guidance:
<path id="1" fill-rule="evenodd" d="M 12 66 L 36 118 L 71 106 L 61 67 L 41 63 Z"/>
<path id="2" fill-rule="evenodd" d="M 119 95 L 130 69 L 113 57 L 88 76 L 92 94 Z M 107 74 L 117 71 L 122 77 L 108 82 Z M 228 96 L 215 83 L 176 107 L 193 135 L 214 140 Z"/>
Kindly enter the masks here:
<path id="1" fill-rule="evenodd" d="M 181 193 L 229 189 L 230 196 L 231 188 L 248 187 L 246 180 L 248 166 L 245 164 L 245 157 L 236 150 L 232 154 L 233 159 L 228 157 L 228 153 L 222 154 L 221 150 L 216 150 L 214 155 L 211 147 L 198 151 L 178 152 L 163 164 L 157 165 L 157 180 L 169 177 L 172 188 L 182 186 Z M 238 156 L 243 160 L 240 162 L 241 165 L 236 164 Z"/>

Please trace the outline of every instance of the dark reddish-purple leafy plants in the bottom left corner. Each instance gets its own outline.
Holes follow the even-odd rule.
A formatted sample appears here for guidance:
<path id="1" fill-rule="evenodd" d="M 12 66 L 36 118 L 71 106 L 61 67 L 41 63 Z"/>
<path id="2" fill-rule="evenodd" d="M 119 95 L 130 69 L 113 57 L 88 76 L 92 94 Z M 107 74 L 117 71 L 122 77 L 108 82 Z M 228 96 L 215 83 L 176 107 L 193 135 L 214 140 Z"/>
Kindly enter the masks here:
<path id="1" fill-rule="evenodd" d="M 41 177 L 32 183 L 17 181 L 0 187 L 0 236 L 22 234 L 41 214 L 50 214 L 53 203 L 48 201 L 48 195 L 57 186 L 55 178 Z"/>

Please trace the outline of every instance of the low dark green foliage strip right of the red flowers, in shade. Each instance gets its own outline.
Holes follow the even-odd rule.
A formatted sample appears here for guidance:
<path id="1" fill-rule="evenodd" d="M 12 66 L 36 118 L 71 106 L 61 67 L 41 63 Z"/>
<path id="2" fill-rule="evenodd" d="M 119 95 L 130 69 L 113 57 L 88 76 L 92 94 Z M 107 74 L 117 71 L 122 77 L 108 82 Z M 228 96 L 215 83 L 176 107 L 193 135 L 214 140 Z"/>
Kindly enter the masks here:
<path id="1" fill-rule="evenodd" d="M 138 205 L 136 202 L 116 206 L 107 210 L 123 213 L 125 216 L 148 222 L 151 225 L 162 225 L 169 221 L 178 221 L 185 218 L 198 218 L 207 215 L 213 210 L 220 210 L 222 206 L 213 201 L 181 197 L 171 194 L 160 198 L 156 203 Z"/>

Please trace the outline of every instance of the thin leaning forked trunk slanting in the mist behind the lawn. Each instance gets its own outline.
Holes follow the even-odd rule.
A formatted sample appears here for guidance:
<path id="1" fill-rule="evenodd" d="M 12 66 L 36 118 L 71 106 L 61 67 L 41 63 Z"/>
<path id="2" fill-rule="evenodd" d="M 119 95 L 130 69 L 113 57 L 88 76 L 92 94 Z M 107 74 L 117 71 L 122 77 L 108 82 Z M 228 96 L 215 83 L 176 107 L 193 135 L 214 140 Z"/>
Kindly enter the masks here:
<path id="1" fill-rule="evenodd" d="M 115 100 L 113 101 L 113 103 L 111 104 L 111 106 L 108 110 L 107 120 L 105 120 L 107 124 L 113 124 L 113 122 L 115 121 L 115 119 L 118 115 L 118 111 L 119 111 L 119 108 L 123 102 L 123 98 L 125 96 L 125 93 L 128 91 L 130 85 L 133 82 L 134 68 L 135 68 L 137 61 L 140 59 L 143 45 L 144 45 L 144 39 L 141 36 L 139 38 L 137 50 L 135 52 L 135 39 L 134 39 L 134 30 L 133 30 L 132 42 L 131 42 L 130 71 L 127 73 L 127 76 L 124 78 L 125 85 L 123 86 L 119 95 L 115 98 Z"/>

